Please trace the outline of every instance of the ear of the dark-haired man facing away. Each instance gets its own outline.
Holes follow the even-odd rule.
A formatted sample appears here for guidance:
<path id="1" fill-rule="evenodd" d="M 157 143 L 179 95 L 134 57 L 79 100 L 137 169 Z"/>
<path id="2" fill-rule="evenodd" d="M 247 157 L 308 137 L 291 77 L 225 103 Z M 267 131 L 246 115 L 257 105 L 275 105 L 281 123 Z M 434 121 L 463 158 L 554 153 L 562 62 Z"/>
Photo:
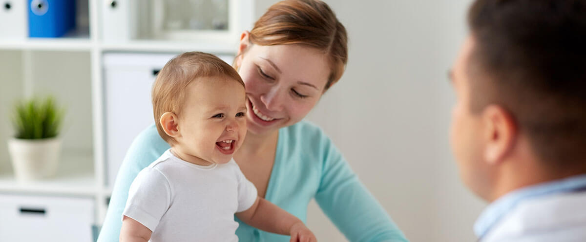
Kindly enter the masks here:
<path id="1" fill-rule="evenodd" d="M 496 165 L 505 160 L 515 147 L 518 129 L 513 116 L 498 105 L 489 105 L 482 111 L 484 160 Z"/>

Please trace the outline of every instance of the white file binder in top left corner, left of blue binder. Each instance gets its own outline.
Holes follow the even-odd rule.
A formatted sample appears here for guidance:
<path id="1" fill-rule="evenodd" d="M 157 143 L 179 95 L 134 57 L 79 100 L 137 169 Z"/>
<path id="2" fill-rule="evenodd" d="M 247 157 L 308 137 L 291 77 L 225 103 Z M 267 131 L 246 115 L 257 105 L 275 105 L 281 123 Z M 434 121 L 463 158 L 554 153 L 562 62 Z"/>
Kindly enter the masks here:
<path id="1" fill-rule="evenodd" d="M 0 6 L 0 39 L 26 39 L 29 34 L 28 4 L 8 0 Z"/>

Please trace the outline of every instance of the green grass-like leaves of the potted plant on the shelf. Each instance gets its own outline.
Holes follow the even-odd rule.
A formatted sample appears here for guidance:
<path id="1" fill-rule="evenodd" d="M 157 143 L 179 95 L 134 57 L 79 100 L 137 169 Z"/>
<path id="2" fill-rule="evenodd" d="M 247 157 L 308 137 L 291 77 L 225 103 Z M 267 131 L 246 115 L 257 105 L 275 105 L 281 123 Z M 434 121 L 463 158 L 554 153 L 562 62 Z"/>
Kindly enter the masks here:
<path id="1" fill-rule="evenodd" d="M 32 98 L 15 104 L 12 123 L 16 139 L 46 139 L 59 134 L 64 110 L 57 108 L 52 96 Z"/>

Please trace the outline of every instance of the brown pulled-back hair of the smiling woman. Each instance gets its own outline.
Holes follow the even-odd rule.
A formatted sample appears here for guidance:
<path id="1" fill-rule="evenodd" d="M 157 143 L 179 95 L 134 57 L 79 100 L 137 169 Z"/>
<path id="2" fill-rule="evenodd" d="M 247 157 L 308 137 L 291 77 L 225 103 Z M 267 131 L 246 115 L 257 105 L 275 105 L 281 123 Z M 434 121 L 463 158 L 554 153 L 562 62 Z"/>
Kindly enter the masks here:
<path id="1" fill-rule="evenodd" d="M 323 51 L 331 72 L 325 89 L 337 82 L 348 61 L 346 28 L 325 2 L 285 0 L 268 8 L 254 24 L 250 42 L 261 46 L 303 44 Z"/>

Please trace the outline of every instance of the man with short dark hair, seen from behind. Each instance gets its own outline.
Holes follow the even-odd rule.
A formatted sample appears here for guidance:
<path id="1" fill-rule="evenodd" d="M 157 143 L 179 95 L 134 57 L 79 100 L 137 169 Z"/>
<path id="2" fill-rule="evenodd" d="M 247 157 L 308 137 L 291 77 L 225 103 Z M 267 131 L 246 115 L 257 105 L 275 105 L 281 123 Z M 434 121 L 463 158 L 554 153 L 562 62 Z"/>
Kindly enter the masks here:
<path id="1" fill-rule="evenodd" d="M 586 1 L 477 0 L 451 144 L 482 242 L 586 241 Z"/>

